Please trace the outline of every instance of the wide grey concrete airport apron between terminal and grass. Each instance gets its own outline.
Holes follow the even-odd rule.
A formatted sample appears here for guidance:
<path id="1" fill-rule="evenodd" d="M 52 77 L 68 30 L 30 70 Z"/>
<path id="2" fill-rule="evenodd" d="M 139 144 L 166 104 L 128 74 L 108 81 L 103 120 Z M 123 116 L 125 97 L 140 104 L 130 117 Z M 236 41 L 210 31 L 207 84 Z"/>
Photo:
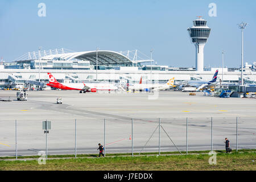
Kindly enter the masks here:
<path id="1" fill-rule="evenodd" d="M 189 93 L 79 93 L 75 90 L 28 92 L 27 101 L 17 101 L 16 92 L 0 90 L 0 156 L 15 155 L 15 119 L 18 123 L 18 155 L 36 155 L 46 148 L 42 121 L 51 121 L 48 154 L 74 154 L 75 119 L 77 154 L 97 153 L 97 144 L 108 152 L 131 152 L 131 118 L 134 118 L 134 152 L 158 151 L 158 121 L 161 151 L 185 151 L 188 118 L 188 149 L 210 150 L 210 121 L 213 117 L 213 150 L 224 150 L 228 137 L 236 148 L 238 117 L 239 148 L 256 148 L 256 100 L 189 96 Z M 56 104 L 62 97 L 63 104 Z M 166 135 L 166 133 L 168 136 Z"/>

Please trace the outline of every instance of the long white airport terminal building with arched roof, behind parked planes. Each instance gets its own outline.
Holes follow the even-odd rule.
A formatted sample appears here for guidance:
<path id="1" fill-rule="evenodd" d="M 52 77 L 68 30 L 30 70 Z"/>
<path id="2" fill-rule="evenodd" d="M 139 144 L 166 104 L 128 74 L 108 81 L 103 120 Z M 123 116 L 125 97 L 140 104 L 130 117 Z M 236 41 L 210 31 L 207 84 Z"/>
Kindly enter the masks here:
<path id="1" fill-rule="evenodd" d="M 49 52 L 49 53 L 48 53 Z M 222 68 L 174 68 L 167 65 L 155 65 L 155 61 L 138 60 L 138 51 L 84 51 L 55 53 L 50 51 L 28 53 L 20 60 L 0 64 L 0 87 L 46 86 L 48 72 L 51 72 L 59 82 L 110 81 L 125 85 L 127 82 L 166 82 L 175 77 L 176 81 L 211 80 L 216 69 L 221 78 Z M 139 57 L 140 58 L 140 57 Z M 255 84 L 256 63 L 246 64 L 244 82 Z M 223 81 L 239 83 L 240 68 L 223 68 Z"/>

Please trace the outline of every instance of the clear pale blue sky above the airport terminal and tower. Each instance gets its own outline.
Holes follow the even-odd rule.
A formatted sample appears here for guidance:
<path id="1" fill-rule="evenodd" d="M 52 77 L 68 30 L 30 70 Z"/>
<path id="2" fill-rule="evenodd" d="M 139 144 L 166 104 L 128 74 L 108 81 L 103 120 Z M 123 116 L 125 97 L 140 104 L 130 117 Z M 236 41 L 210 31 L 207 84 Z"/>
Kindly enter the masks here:
<path id="1" fill-rule="evenodd" d="M 46 4 L 46 17 L 38 16 L 38 4 Z M 209 3 L 216 3 L 217 17 L 209 17 Z M 90 51 L 139 49 L 161 65 L 195 66 L 195 46 L 187 28 L 201 15 L 212 28 L 205 46 L 204 63 L 241 64 L 241 31 L 245 30 L 245 61 L 256 61 L 256 1 L 252 0 L 91 0 L 0 1 L 0 57 L 14 60 L 29 51 L 67 48 Z"/>

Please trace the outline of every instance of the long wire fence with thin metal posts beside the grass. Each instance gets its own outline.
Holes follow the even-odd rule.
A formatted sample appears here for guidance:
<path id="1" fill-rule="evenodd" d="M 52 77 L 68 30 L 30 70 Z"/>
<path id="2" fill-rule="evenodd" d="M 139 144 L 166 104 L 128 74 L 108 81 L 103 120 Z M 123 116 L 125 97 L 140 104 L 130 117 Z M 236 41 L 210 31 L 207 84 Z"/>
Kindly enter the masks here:
<path id="1" fill-rule="evenodd" d="M 40 117 L 40 116 L 39 116 Z M 233 150 L 256 148 L 255 118 L 155 118 L 155 119 L 46 119 L 1 121 L 0 156 L 105 154 L 225 150 L 228 138 Z M 46 116 L 47 117 L 47 116 Z M 47 136 L 46 136 L 47 135 Z"/>

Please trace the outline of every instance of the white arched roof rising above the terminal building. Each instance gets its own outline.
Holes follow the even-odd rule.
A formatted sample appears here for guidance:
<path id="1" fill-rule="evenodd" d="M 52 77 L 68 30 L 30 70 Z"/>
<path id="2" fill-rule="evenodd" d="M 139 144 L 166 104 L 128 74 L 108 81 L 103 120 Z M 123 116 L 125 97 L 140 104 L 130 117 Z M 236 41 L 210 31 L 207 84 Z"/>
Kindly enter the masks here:
<path id="1" fill-rule="evenodd" d="M 135 63 L 142 63 L 142 62 L 148 61 L 148 60 L 133 61 L 133 60 L 130 60 L 128 57 L 122 55 L 121 53 L 114 52 L 114 51 L 84 51 L 84 52 L 61 53 L 57 55 L 44 56 L 42 57 L 42 60 L 79 59 L 79 60 L 90 61 L 90 64 L 96 65 L 97 57 L 98 57 L 98 65 L 135 64 Z"/>

